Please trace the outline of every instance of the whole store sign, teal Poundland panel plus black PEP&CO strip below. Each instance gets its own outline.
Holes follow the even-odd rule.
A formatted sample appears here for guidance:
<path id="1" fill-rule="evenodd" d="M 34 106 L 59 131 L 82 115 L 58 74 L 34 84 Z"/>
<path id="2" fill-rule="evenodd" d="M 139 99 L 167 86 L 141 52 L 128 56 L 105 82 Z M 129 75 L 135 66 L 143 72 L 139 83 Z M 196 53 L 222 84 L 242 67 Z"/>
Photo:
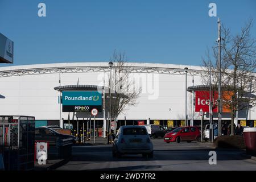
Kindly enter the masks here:
<path id="1" fill-rule="evenodd" d="M 90 112 L 92 109 L 101 111 L 101 91 L 63 91 L 63 112 Z"/>

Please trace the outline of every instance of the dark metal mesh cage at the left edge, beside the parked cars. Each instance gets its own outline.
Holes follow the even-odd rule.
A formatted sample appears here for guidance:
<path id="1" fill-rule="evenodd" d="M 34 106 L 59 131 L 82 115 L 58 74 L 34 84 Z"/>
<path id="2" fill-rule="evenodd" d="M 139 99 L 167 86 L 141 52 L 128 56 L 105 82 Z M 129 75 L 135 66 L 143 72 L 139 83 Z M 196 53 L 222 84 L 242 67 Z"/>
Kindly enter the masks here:
<path id="1" fill-rule="evenodd" d="M 0 115 L 0 153 L 5 169 L 34 168 L 35 117 Z"/>

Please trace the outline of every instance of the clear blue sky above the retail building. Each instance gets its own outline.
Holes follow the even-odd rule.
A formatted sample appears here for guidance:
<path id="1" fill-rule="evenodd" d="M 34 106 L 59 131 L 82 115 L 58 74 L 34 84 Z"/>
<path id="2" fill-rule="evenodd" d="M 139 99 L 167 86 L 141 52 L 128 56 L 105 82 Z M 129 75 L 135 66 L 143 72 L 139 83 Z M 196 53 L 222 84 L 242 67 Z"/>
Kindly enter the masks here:
<path id="1" fill-rule="evenodd" d="M 0 32 L 14 41 L 13 65 L 108 61 L 114 49 L 129 61 L 201 65 L 217 39 L 210 2 L 234 33 L 253 18 L 256 37 L 254 0 L 0 0 Z"/>

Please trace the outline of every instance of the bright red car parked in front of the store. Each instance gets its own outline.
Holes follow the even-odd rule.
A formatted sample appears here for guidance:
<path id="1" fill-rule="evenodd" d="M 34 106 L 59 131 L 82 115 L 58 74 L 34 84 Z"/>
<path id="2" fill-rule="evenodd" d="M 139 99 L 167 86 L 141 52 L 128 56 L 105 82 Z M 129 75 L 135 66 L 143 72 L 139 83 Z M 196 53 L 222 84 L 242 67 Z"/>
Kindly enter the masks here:
<path id="1" fill-rule="evenodd" d="M 175 130 L 172 130 L 170 133 L 167 133 L 164 136 L 164 142 L 177 142 L 181 141 L 191 142 L 193 140 L 200 141 L 201 133 L 198 127 L 196 126 L 187 126 L 187 127 L 177 127 Z"/>

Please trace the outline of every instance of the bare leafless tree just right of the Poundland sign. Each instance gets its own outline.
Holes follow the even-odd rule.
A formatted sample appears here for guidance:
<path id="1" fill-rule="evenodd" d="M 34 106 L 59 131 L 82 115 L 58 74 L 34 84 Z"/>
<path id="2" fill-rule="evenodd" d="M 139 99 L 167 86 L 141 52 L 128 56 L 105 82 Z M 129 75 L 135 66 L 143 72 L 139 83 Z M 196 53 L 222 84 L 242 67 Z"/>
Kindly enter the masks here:
<path id="1" fill-rule="evenodd" d="M 109 88 L 111 90 L 111 118 L 118 117 L 130 106 L 137 104 L 141 93 L 141 87 L 136 88 L 135 82 L 126 69 L 127 58 L 125 53 L 114 51 L 110 61 L 113 63 L 111 80 L 109 77 Z M 109 110 L 109 105 L 107 109 Z"/>

